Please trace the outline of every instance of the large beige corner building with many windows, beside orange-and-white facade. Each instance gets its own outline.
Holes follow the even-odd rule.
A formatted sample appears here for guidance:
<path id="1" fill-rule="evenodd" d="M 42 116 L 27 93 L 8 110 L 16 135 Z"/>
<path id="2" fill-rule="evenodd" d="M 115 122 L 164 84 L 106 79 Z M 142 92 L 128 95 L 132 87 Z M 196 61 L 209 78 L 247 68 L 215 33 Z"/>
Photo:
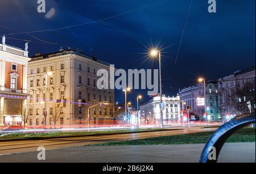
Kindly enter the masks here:
<path id="1" fill-rule="evenodd" d="M 110 71 L 108 63 L 71 49 L 32 57 L 28 62 L 27 78 L 28 93 L 31 95 L 28 101 L 34 106 L 30 124 L 43 124 L 44 100 L 47 125 L 53 124 L 51 114 L 55 106 L 61 110 L 61 119 L 57 123 L 61 125 L 85 123 L 88 107 L 100 102 L 106 104 L 91 108 L 90 118 L 109 117 L 113 112 L 110 105 L 114 103 L 114 90 L 97 88 L 100 77 L 96 74 L 99 69 Z M 105 76 L 109 77 L 109 74 Z"/>

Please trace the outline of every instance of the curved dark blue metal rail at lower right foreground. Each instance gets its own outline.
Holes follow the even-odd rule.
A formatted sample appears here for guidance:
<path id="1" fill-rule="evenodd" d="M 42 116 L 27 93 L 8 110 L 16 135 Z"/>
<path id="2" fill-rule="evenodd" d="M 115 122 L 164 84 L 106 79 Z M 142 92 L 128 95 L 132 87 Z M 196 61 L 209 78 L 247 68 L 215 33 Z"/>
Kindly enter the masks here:
<path id="1" fill-rule="evenodd" d="M 226 122 L 226 124 L 218 128 L 205 145 L 201 154 L 200 163 L 217 163 L 221 148 L 226 140 L 230 137 L 230 135 L 232 135 L 235 131 L 243 128 L 244 126 L 253 123 L 255 123 L 255 113 L 245 114 L 243 116 L 234 118 L 233 120 Z M 216 150 L 216 159 L 210 160 L 208 155 L 210 152 L 212 152 L 212 147 L 214 147 Z"/>

